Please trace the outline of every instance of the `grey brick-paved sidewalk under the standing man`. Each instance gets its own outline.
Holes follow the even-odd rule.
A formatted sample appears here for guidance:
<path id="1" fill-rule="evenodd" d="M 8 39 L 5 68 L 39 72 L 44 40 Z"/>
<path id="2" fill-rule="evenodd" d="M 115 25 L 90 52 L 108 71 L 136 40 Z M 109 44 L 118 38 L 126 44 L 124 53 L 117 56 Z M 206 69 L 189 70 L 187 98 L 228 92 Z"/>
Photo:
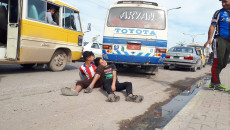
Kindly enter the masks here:
<path id="1" fill-rule="evenodd" d="M 230 64 L 221 81 L 230 88 Z M 230 93 L 202 89 L 164 128 L 164 130 L 230 130 Z"/>

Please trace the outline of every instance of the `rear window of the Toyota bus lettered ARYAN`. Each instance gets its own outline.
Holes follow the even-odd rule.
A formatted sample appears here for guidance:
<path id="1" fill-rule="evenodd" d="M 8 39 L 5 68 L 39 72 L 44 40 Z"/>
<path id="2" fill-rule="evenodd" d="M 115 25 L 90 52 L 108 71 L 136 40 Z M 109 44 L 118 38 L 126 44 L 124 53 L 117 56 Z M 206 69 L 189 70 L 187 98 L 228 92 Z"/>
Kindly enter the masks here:
<path id="1" fill-rule="evenodd" d="M 115 7 L 110 9 L 107 26 L 164 30 L 165 12 L 140 7 Z"/>

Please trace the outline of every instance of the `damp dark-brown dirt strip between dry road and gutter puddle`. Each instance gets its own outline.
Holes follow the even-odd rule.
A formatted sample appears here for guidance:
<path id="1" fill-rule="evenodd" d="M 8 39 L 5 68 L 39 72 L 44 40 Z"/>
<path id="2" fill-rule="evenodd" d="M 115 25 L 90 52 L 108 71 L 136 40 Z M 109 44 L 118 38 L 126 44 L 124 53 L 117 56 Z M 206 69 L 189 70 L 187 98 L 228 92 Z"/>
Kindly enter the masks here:
<path id="1" fill-rule="evenodd" d="M 200 79 L 202 79 L 205 76 L 201 76 L 201 77 L 197 77 L 197 78 L 186 78 L 184 80 L 179 80 L 176 81 L 174 83 L 162 83 L 162 84 L 168 84 L 170 86 L 170 88 L 167 88 L 165 90 L 165 92 L 170 92 L 170 96 L 169 99 L 163 101 L 163 102 L 159 102 L 159 103 L 155 103 L 153 105 L 151 105 L 148 110 L 143 114 L 143 115 L 139 115 L 134 117 L 131 120 L 122 120 L 121 122 L 119 122 L 120 124 L 120 130 L 132 130 L 135 129 L 138 125 L 138 123 L 143 122 L 144 120 L 154 117 L 154 116 L 158 116 L 158 111 L 157 109 L 165 104 L 167 104 L 168 102 L 171 101 L 172 98 L 174 98 L 175 96 L 177 96 L 178 94 L 180 94 L 182 91 L 188 89 L 189 87 L 191 87 L 194 83 L 196 83 L 197 81 L 199 81 Z M 148 128 L 147 128 L 148 129 Z M 149 128 L 149 129 L 153 129 L 153 128 Z"/>

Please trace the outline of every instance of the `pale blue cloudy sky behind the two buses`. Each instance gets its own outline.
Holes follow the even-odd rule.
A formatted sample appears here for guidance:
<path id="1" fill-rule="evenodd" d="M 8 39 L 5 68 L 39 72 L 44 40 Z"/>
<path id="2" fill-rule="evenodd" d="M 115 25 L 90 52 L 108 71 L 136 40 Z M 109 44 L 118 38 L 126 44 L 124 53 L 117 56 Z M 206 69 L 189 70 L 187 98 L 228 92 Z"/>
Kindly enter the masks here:
<path id="1" fill-rule="evenodd" d="M 78 8 L 80 11 L 82 28 L 85 32 L 91 23 L 91 32 L 85 33 L 84 41 L 100 35 L 98 41 L 102 43 L 105 17 L 111 5 L 117 0 L 60 0 Z M 147 0 L 145 0 L 147 1 Z M 221 9 L 219 0 L 148 0 L 157 2 L 159 6 L 172 9 L 168 12 L 168 47 L 177 43 L 191 43 L 190 35 L 197 35 L 195 43 L 204 44 L 208 38 L 208 29 L 216 10 Z M 190 35 L 184 35 L 190 34 Z M 199 35 L 204 34 L 204 35 Z"/>

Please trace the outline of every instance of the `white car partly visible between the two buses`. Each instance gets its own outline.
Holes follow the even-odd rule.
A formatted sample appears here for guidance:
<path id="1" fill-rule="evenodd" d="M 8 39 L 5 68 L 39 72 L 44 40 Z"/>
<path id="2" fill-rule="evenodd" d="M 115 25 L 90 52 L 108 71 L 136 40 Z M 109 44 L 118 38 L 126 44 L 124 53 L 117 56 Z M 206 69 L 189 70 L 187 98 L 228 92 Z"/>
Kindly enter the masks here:
<path id="1" fill-rule="evenodd" d="M 83 52 L 92 51 L 95 55 L 95 58 L 102 57 L 102 44 L 98 42 L 84 42 L 83 43 Z"/>

